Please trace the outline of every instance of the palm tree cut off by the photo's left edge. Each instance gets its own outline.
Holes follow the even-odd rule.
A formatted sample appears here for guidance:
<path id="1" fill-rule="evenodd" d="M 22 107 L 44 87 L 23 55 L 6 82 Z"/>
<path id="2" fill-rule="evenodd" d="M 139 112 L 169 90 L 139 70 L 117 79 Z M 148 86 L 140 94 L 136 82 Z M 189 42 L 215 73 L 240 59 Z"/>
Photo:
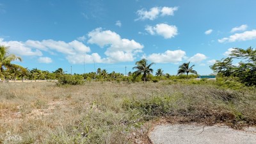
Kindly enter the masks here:
<path id="1" fill-rule="evenodd" d="M 20 68 L 22 69 L 20 65 L 12 64 L 12 61 L 19 60 L 22 61 L 22 59 L 19 56 L 15 56 L 14 54 L 8 53 L 9 47 L 5 47 L 4 45 L 0 45 L 0 73 L 3 72 L 5 68 Z"/>

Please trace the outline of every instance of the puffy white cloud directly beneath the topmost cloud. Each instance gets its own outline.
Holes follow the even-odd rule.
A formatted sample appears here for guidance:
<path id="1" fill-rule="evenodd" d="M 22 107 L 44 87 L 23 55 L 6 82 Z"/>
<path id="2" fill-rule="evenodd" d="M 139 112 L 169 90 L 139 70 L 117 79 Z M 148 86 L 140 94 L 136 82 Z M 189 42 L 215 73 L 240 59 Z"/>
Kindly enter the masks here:
<path id="1" fill-rule="evenodd" d="M 157 24 L 156 26 L 146 26 L 145 30 L 150 35 L 161 35 L 164 38 L 173 38 L 178 35 L 178 28 L 176 26 L 170 26 L 168 24 Z"/>

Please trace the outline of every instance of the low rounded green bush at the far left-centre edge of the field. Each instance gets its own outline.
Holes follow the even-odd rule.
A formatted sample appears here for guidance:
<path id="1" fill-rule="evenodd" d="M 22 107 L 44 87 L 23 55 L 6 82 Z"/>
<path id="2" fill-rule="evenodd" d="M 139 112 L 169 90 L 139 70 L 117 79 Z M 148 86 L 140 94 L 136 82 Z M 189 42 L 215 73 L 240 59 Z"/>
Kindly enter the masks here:
<path id="1" fill-rule="evenodd" d="M 58 85 L 65 85 L 65 84 L 71 84 L 71 85 L 77 85 L 77 84 L 83 84 L 84 83 L 84 77 L 79 75 L 64 75 L 61 76 L 58 79 Z"/>

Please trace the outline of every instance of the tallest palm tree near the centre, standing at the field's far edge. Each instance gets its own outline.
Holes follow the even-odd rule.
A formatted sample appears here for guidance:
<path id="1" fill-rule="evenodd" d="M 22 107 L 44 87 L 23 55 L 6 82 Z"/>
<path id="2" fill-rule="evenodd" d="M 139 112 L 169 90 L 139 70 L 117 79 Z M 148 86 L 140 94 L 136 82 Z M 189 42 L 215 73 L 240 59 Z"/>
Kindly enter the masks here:
<path id="1" fill-rule="evenodd" d="M 140 61 L 136 61 L 135 63 L 137 66 L 133 67 L 132 69 L 137 69 L 134 73 L 136 74 L 136 76 L 140 76 L 141 74 L 143 74 L 143 79 L 144 79 L 144 83 L 146 83 L 147 80 L 147 74 L 151 74 L 153 73 L 153 69 L 150 68 L 153 64 L 155 63 L 150 63 L 148 65 L 147 60 L 145 58 L 143 58 Z"/>

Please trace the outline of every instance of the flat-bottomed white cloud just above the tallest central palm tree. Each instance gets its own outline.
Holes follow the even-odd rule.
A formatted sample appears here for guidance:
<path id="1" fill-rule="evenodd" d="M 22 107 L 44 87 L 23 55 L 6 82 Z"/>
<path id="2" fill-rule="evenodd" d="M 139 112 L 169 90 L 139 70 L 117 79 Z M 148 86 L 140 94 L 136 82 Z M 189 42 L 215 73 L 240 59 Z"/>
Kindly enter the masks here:
<path id="1" fill-rule="evenodd" d="M 147 60 L 154 63 L 178 63 L 186 58 L 186 52 L 182 50 L 166 51 L 164 53 L 154 53 L 145 56 Z"/>

